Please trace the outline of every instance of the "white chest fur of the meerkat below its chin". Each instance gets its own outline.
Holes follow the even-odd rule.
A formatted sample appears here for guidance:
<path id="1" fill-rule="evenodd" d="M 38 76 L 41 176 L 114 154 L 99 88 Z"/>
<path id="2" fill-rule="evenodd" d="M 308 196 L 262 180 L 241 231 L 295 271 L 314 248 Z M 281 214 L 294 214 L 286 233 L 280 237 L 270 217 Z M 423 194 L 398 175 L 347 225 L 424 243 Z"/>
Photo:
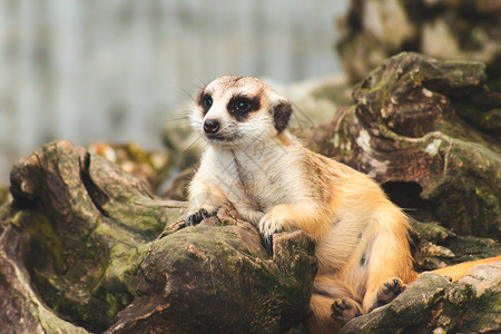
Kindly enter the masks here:
<path id="1" fill-rule="evenodd" d="M 243 218 L 257 224 L 274 206 L 297 200 L 302 187 L 295 176 L 297 168 L 287 168 L 297 166 L 297 160 L 294 147 L 271 139 L 238 149 L 210 146 L 199 170 L 225 193 Z"/>

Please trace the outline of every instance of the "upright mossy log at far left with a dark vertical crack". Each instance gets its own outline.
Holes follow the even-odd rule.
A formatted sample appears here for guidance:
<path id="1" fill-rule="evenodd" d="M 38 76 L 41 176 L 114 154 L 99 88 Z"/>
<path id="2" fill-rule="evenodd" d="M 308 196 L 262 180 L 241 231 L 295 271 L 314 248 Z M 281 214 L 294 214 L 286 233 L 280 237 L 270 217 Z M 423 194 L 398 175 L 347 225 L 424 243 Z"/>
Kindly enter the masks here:
<path id="1" fill-rule="evenodd" d="M 134 298 L 148 243 L 184 205 L 69 141 L 48 144 L 11 173 L 8 223 L 29 236 L 26 267 L 56 314 L 92 332 Z M 18 265 L 21 265 L 18 263 Z"/>

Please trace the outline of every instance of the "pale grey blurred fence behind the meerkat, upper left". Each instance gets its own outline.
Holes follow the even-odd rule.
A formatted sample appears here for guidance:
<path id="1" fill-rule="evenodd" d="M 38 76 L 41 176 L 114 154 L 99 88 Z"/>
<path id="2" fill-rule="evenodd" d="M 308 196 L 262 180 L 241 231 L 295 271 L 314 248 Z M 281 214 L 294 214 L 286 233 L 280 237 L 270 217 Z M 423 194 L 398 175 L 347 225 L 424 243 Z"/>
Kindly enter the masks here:
<path id="1" fill-rule="evenodd" d="M 14 159 L 55 139 L 158 147 L 168 110 L 223 73 L 288 82 L 340 71 L 334 20 L 346 6 L 0 1 L 0 183 Z"/>

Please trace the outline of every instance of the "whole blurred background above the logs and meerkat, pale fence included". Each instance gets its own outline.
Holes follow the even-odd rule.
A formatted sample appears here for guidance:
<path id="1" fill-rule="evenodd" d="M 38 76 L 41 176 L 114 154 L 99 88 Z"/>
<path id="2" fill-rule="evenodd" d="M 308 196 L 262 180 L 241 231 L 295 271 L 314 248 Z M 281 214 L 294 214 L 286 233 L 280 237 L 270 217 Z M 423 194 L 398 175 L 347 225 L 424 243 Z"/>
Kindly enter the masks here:
<path id="1" fill-rule="evenodd" d="M 501 91 L 501 0 L 1 0 L 0 185 L 57 139 L 184 151 L 176 112 L 220 75 L 265 78 L 295 115 L 330 120 L 401 51 L 482 61 Z"/>

